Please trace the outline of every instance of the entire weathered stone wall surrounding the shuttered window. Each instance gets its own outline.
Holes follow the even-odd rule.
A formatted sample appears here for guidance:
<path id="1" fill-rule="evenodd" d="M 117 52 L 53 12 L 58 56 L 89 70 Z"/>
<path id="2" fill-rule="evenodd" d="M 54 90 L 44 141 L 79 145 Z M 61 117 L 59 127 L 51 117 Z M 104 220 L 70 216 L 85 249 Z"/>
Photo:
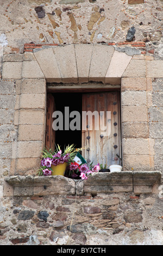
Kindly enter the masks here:
<path id="1" fill-rule="evenodd" d="M 162 0 L 0 7 L 0 244 L 162 245 Z M 93 177 L 77 190 L 77 181 L 35 176 L 46 82 L 121 88 L 124 172 L 116 179 Z"/>

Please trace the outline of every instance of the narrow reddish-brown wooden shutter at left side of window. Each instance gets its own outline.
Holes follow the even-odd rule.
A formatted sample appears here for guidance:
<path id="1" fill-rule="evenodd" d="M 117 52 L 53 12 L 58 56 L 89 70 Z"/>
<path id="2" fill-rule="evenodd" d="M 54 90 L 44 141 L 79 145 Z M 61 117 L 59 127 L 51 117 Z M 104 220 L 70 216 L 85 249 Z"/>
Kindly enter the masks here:
<path id="1" fill-rule="evenodd" d="M 55 130 L 53 130 L 52 115 L 55 111 L 55 101 L 51 93 L 47 94 L 47 110 L 46 110 L 46 135 L 45 135 L 45 146 L 47 149 L 55 149 Z"/>

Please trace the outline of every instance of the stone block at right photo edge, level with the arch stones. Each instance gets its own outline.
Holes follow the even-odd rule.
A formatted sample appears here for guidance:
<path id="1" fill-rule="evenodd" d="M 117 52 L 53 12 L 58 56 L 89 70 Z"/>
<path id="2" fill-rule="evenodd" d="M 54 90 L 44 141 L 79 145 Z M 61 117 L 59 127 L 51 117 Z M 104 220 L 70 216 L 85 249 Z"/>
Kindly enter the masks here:
<path id="1" fill-rule="evenodd" d="M 147 77 L 163 77 L 163 60 L 147 61 Z"/>

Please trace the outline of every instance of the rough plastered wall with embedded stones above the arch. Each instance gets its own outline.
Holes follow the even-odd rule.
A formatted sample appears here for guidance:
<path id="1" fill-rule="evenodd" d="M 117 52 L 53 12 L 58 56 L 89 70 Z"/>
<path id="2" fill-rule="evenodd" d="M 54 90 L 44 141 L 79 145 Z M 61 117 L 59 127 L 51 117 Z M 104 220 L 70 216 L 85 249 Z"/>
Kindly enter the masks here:
<path id="1" fill-rule="evenodd" d="M 136 3 L 136 4 L 135 4 Z M 23 44 L 85 44 L 126 41 L 132 26 L 135 41 L 161 40 L 161 1 L 24 0 L 1 3 L 1 31 L 6 53 L 22 53 Z M 15 10 L 15 11 L 12 11 Z M 155 10 L 155 11 L 153 11 Z"/>

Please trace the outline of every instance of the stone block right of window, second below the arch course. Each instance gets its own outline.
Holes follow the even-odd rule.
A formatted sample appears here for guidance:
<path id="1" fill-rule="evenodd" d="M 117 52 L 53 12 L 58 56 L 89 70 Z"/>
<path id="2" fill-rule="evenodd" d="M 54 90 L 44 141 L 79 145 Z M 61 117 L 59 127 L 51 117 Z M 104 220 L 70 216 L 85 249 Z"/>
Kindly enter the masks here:
<path id="1" fill-rule="evenodd" d="M 146 92 L 122 92 L 121 93 L 121 103 L 122 106 L 143 106 L 147 105 L 147 95 Z"/>

